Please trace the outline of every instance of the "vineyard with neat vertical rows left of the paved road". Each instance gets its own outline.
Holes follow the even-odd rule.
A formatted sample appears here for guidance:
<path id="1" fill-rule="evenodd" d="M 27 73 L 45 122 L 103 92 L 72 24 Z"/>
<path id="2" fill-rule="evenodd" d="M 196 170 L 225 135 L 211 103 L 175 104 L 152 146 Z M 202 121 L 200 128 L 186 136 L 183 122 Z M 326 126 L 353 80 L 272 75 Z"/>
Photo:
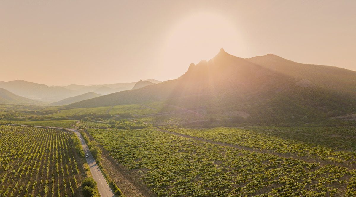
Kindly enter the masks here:
<path id="1" fill-rule="evenodd" d="M 0 196 L 81 196 L 72 136 L 51 128 L 0 126 Z"/>

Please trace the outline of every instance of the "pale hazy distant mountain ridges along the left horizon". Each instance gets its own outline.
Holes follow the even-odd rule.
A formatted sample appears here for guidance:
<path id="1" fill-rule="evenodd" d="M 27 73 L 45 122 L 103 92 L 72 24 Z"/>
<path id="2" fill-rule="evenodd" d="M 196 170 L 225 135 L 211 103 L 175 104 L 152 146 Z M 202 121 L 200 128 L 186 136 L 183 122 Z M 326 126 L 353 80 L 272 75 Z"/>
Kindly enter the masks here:
<path id="1" fill-rule="evenodd" d="M 158 80 L 152 80 L 160 82 Z M 0 81 L 0 88 L 4 88 L 16 95 L 26 97 L 32 100 L 53 103 L 69 97 L 82 95 L 88 92 L 96 94 L 111 94 L 123 90 L 131 90 L 136 82 L 103 84 L 103 85 L 68 85 L 68 86 L 47 86 L 24 80 Z M 67 103 L 68 104 L 68 103 Z"/>

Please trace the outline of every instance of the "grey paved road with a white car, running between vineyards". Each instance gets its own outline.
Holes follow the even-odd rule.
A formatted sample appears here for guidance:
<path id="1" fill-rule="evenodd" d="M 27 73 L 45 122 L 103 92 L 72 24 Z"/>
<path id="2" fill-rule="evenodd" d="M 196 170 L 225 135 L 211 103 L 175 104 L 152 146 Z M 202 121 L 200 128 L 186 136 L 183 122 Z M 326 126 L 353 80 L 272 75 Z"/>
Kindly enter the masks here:
<path id="1" fill-rule="evenodd" d="M 93 175 L 93 179 L 98 183 L 98 190 L 99 190 L 100 196 L 101 197 L 115 197 L 114 193 L 112 193 L 108 183 L 106 182 L 103 174 L 101 173 L 98 164 L 96 164 L 96 162 L 93 158 L 93 155 L 91 155 L 90 150 L 89 150 L 87 144 L 85 143 L 82 134 L 80 134 L 79 131 L 75 130 L 75 129 L 67 128 L 67 130 L 74 132 L 78 136 L 80 142 L 82 143 L 84 153 L 89 155 L 89 158 L 86 158 L 86 159 L 87 159 L 87 162 L 89 165 L 91 175 Z"/>

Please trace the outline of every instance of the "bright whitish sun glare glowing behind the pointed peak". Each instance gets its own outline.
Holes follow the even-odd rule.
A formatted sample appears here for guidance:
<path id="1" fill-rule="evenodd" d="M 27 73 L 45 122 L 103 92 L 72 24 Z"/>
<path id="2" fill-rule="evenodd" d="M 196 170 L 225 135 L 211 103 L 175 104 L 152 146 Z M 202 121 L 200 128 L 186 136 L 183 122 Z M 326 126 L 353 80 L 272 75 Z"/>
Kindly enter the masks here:
<path id="1" fill-rule="evenodd" d="M 167 62 L 180 59 L 177 64 L 188 65 L 209 60 L 220 48 L 241 48 L 241 42 L 236 25 L 227 18 L 200 13 L 183 18 L 171 29 L 161 57 Z"/>

